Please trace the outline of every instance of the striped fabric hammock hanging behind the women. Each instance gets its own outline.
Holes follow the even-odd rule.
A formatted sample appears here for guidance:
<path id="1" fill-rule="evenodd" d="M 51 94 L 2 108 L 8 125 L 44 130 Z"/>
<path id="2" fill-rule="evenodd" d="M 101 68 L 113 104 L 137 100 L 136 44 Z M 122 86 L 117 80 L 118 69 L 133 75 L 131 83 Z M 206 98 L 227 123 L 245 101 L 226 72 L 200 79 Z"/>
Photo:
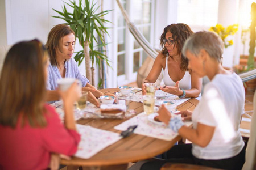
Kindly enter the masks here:
<path id="1" fill-rule="evenodd" d="M 139 31 L 139 29 L 135 26 L 135 24 L 133 22 L 130 21 L 129 16 L 127 15 L 127 12 L 125 11 L 125 9 L 123 8 L 123 6 L 121 5 L 121 3 L 119 2 L 119 0 L 117 0 L 117 4 L 123 14 L 123 18 L 125 18 L 125 21 L 128 25 L 128 28 L 131 32 L 131 34 L 134 36 L 135 40 L 137 40 L 137 42 L 139 43 L 139 45 L 142 46 L 142 48 L 144 49 L 144 51 L 153 59 L 156 58 L 156 56 L 158 56 L 158 52 L 156 52 L 156 50 L 154 49 L 154 47 L 146 40 L 146 38 L 142 35 L 142 33 Z M 256 69 L 251 70 L 251 71 L 247 71 L 246 73 L 242 73 L 242 74 L 238 74 L 243 82 L 249 81 L 251 79 L 256 78 Z"/>

